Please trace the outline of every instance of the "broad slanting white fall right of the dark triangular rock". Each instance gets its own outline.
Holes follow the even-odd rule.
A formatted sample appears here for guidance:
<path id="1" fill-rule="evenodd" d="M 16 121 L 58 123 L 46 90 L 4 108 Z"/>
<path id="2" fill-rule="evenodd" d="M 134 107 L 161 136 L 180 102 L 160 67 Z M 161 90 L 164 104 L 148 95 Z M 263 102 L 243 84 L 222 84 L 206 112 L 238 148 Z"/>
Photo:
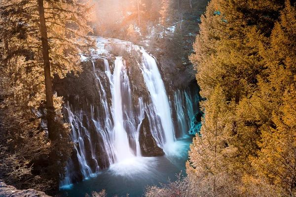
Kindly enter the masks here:
<path id="1" fill-rule="evenodd" d="M 152 134 L 155 138 L 160 140 L 160 144 L 164 147 L 165 144 L 172 144 L 176 139 L 170 104 L 155 59 L 145 50 L 141 50 L 141 52 L 143 54 L 142 73 L 151 96 L 153 110 L 155 110 L 156 115 L 155 118 L 160 119 L 162 127 L 162 130 L 158 130 L 158 133 L 154 133 L 156 131 L 153 131 Z M 161 138 L 158 137 L 159 131 L 163 132 L 163 136 Z"/>

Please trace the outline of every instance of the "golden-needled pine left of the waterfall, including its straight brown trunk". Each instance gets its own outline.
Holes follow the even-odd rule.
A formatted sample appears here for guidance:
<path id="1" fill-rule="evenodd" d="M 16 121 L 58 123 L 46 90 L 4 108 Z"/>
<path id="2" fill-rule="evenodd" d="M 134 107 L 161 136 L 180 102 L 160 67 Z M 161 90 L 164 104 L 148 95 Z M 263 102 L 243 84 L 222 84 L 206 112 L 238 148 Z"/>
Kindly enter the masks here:
<path id="1" fill-rule="evenodd" d="M 59 176 L 63 175 L 71 150 L 69 128 L 61 122 L 62 98 L 53 97 L 51 78 L 56 74 L 64 77 L 70 71 L 81 71 L 79 53 L 94 46 L 91 38 L 86 36 L 91 31 L 86 24 L 88 13 L 89 5 L 77 1 L 6 0 L 0 4 L 3 27 L 0 32 L 1 53 L 5 54 L 1 57 L 4 65 L 1 76 L 5 79 L 2 83 L 6 84 L 3 106 L 11 116 L 13 113 L 19 115 L 17 121 L 10 116 L 5 117 L 5 127 L 8 129 L 12 125 L 19 128 L 21 122 L 28 124 L 28 127 L 18 131 L 20 136 L 26 136 L 26 140 L 34 140 L 32 133 L 36 133 L 36 136 L 43 133 L 39 136 L 40 147 L 46 150 L 45 155 L 49 154 L 51 159 L 48 166 L 39 170 L 39 174 L 42 174 L 44 182 L 52 180 L 49 187 L 58 186 Z M 16 63 L 22 67 L 18 68 Z M 15 88 L 18 91 L 13 91 Z M 15 106 L 19 107 L 12 110 Z M 44 108 L 47 109 L 47 128 L 41 124 L 43 116 L 38 115 Z M 28 115 L 24 116 L 26 113 Z M 30 124 L 33 120 L 34 124 Z M 48 132 L 49 139 L 42 131 Z M 18 144 L 13 152 L 20 153 L 25 143 L 30 144 L 26 140 L 19 143 L 21 138 L 12 139 L 11 145 Z M 38 157 L 28 154 L 20 160 L 43 160 L 46 163 L 43 152 Z M 25 162 L 24 167 L 31 169 L 26 166 L 30 162 Z M 38 168 L 38 165 L 34 168 Z"/>

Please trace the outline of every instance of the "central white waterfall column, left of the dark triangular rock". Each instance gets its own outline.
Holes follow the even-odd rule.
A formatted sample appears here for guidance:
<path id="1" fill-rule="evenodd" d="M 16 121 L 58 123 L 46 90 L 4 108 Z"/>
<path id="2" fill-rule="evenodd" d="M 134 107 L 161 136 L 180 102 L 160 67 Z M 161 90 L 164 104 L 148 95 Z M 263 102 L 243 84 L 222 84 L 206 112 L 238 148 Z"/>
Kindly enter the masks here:
<path id="1" fill-rule="evenodd" d="M 139 144 L 139 129 L 136 128 L 136 121 L 134 120 L 134 114 L 131 104 L 131 89 L 126 72 L 125 64 L 122 57 L 116 57 L 114 62 L 114 71 L 111 73 L 109 62 L 104 59 L 105 73 L 108 76 L 111 90 L 111 116 L 113 124 L 111 123 L 111 117 L 109 113 L 109 107 L 107 102 L 107 95 L 104 87 L 102 86 L 100 78 L 97 76 L 100 82 L 100 88 L 103 91 L 103 97 L 101 102 L 104 106 L 105 111 L 105 128 L 107 132 L 102 132 L 104 142 L 109 147 L 106 149 L 106 153 L 109 155 L 109 163 L 120 163 L 129 158 L 135 156 L 141 156 L 140 144 Z M 94 64 L 93 64 L 94 66 Z M 94 70 L 96 70 L 94 66 Z M 141 123 L 144 119 L 143 99 L 139 98 L 139 112 L 138 121 L 140 128 Z M 100 130 L 102 126 L 97 125 L 97 129 Z M 130 131 L 128 136 L 127 130 Z M 102 130 L 101 130 L 102 131 Z M 129 144 L 129 137 L 132 137 L 132 143 L 135 145 L 135 151 L 131 149 Z M 105 144 L 104 143 L 104 144 Z M 109 145 L 110 144 L 110 145 Z M 112 160 L 114 158 L 114 160 Z"/>

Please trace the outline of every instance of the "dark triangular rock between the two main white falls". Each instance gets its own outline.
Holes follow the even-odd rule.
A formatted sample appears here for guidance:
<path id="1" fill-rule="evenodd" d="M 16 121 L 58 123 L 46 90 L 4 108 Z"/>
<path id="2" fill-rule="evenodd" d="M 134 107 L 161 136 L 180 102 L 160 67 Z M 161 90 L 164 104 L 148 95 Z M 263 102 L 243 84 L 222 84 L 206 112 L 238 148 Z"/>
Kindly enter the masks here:
<path id="1" fill-rule="evenodd" d="M 146 113 L 140 128 L 139 142 L 141 147 L 141 154 L 143 157 L 155 157 L 164 155 L 162 148 L 157 146 L 156 141 L 152 136 L 149 126 L 149 120 Z"/>

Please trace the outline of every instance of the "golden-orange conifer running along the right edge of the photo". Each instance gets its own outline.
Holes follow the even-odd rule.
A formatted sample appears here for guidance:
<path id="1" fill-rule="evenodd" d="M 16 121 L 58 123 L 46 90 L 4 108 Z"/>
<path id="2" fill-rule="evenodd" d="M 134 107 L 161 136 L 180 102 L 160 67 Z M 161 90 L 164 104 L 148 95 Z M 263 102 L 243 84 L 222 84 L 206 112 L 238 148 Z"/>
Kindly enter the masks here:
<path id="1" fill-rule="evenodd" d="M 262 50 L 267 70 L 259 81 L 259 98 L 269 114 L 252 159 L 255 179 L 246 182 L 261 180 L 277 196 L 288 197 L 296 195 L 296 9 L 290 1 L 285 5 L 270 47 Z"/>

